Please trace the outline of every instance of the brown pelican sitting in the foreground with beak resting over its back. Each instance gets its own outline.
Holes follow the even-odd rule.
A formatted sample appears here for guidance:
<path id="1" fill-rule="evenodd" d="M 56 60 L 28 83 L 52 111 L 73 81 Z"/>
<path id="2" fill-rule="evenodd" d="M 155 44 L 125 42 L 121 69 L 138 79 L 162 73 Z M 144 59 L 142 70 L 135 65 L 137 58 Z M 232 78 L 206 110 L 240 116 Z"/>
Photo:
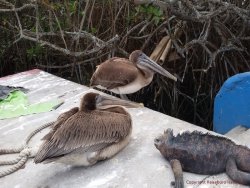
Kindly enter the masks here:
<path id="1" fill-rule="evenodd" d="M 34 162 L 89 166 L 121 151 L 129 142 L 132 123 L 128 112 L 119 105 L 141 106 L 92 92 L 84 95 L 79 108 L 57 118 Z"/>

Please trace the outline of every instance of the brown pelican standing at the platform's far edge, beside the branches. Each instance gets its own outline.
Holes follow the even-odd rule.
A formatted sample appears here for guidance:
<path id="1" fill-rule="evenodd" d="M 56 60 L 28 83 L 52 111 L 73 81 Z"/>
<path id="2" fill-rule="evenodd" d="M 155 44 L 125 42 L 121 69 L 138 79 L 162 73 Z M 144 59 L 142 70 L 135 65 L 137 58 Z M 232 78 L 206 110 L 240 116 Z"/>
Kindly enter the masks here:
<path id="1" fill-rule="evenodd" d="M 177 81 L 175 76 L 142 51 L 136 50 L 130 54 L 129 59 L 113 57 L 97 66 L 90 86 L 116 94 L 130 94 L 150 84 L 156 72 Z"/>

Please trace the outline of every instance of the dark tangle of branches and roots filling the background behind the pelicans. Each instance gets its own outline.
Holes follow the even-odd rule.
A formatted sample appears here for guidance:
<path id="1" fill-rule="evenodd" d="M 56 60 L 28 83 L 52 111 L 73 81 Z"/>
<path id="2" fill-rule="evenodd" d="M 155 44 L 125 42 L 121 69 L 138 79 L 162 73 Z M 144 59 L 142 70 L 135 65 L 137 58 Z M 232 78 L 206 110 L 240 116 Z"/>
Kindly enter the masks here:
<path id="1" fill-rule="evenodd" d="M 39 68 L 88 85 L 107 58 L 150 55 L 169 35 L 180 58 L 163 67 L 182 82 L 156 75 L 129 98 L 211 129 L 221 85 L 249 71 L 249 33 L 248 0 L 0 0 L 0 75 Z"/>

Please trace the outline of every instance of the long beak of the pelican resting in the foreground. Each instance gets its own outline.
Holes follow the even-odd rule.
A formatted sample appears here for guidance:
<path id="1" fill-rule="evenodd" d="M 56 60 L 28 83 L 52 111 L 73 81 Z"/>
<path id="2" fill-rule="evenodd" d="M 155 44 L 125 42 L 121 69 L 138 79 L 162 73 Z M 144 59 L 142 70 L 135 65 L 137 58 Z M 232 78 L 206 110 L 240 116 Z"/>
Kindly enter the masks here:
<path id="1" fill-rule="evenodd" d="M 136 103 L 132 101 L 126 101 L 114 97 L 98 95 L 96 99 L 96 107 L 98 109 L 106 109 L 113 106 L 124 106 L 127 108 L 140 108 L 144 107 L 142 103 Z"/>

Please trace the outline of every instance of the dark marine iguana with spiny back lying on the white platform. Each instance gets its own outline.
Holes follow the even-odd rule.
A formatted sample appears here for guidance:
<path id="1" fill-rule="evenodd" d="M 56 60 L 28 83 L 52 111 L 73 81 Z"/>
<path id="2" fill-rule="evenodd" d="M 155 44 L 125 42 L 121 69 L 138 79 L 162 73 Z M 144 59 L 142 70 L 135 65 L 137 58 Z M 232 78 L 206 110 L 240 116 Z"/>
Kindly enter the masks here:
<path id="1" fill-rule="evenodd" d="M 228 138 L 198 131 L 174 136 L 167 129 L 154 144 L 170 161 L 176 188 L 184 187 L 182 169 L 203 175 L 226 172 L 233 181 L 250 185 L 250 149 Z"/>

